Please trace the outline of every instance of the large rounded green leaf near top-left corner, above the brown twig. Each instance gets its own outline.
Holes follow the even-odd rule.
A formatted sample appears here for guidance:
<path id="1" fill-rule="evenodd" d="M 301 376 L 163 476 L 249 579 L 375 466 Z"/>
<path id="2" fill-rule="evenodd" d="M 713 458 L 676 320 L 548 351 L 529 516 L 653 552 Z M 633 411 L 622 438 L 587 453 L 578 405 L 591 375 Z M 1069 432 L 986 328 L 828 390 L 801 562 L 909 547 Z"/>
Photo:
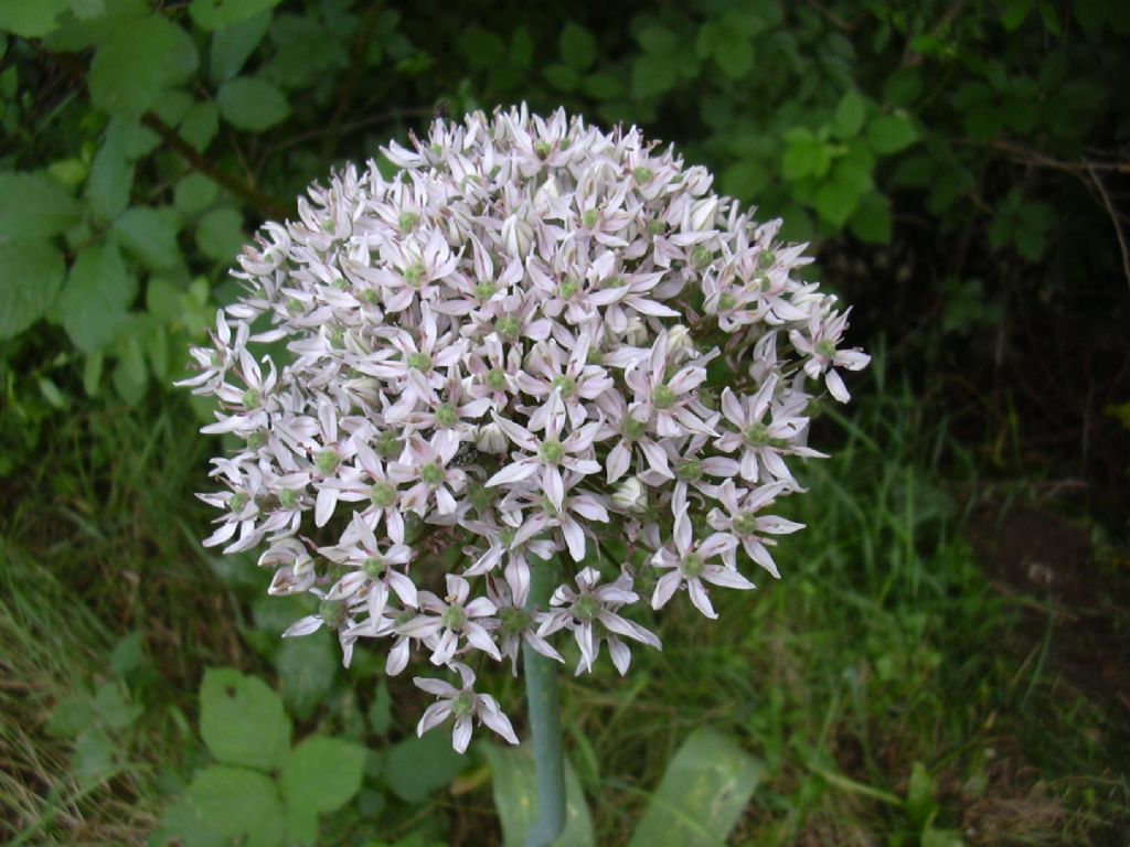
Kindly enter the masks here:
<path id="1" fill-rule="evenodd" d="M 90 99 L 123 117 L 140 117 L 162 90 L 197 69 L 197 47 L 181 27 L 154 15 L 115 27 L 90 63 Z"/>

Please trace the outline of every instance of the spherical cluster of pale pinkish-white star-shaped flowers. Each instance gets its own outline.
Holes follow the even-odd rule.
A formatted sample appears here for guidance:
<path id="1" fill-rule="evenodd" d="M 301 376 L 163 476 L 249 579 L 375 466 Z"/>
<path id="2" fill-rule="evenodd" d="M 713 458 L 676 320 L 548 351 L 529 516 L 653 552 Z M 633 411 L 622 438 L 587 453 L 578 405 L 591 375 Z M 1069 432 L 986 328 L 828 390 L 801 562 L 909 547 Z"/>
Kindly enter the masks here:
<path id="1" fill-rule="evenodd" d="M 746 557 L 777 576 L 774 536 L 800 525 L 766 509 L 820 455 L 811 401 L 846 401 L 838 370 L 868 357 L 794 276 L 805 245 L 635 129 L 522 107 L 384 155 L 393 178 L 347 167 L 262 228 L 192 351 L 182 384 L 220 408 L 203 431 L 244 442 L 212 460 L 205 543 L 264 547 L 271 594 L 319 599 L 286 635 L 457 671 L 458 689 L 417 678 L 443 698 L 420 732 L 453 716 L 463 749 L 477 718 L 514 741 L 475 654 L 564 661 L 567 631 L 577 673 L 602 646 L 624 673 L 633 645 L 660 648 L 636 606 L 685 595 L 715 618 L 712 595 L 754 587 Z M 551 557 L 564 582 L 537 608 Z"/>

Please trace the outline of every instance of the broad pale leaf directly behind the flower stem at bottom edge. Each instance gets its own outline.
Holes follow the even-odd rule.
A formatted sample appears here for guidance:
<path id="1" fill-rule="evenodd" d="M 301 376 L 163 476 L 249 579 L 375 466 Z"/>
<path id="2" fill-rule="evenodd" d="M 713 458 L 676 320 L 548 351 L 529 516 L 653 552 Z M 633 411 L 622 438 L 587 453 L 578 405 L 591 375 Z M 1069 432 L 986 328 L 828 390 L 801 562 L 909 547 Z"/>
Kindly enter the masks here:
<path id="1" fill-rule="evenodd" d="M 533 758 L 525 746 L 503 749 L 484 744 L 490 763 L 495 810 L 502 824 L 503 847 L 520 847 L 538 819 L 538 779 Z M 596 845 L 589 804 L 573 766 L 565 762 L 565 830 L 554 841 L 556 847 Z"/>

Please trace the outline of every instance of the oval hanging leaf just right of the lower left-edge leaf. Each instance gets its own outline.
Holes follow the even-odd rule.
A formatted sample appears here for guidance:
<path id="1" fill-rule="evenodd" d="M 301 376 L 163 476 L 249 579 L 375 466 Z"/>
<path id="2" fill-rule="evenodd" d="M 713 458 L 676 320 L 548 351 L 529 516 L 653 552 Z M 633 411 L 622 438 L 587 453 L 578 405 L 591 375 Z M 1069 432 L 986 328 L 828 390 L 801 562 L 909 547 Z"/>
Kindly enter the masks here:
<path id="1" fill-rule="evenodd" d="M 75 347 L 94 352 L 114 338 L 137 296 L 137 279 L 113 243 L 79 253 L 59 298 L 59 317 Z"/>

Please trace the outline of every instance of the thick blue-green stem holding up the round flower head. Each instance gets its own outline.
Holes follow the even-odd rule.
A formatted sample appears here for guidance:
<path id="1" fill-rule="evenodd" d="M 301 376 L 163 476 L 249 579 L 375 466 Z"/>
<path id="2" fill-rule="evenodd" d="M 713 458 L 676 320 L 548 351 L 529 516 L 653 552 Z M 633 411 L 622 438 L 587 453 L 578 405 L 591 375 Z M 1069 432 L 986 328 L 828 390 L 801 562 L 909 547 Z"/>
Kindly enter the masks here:
<path id="1" fill-rule="evenodd" d="M 556 562 L 532 559 L 530 564 L 530 597 L 525 608 L 545 609 L 554 590 Z M 522 663 L 538 774 L 538 820 L 530 829 L 525 845 L 549 847 L 565 829 L 565 758 L 562 754 L 557 666 L 529 644 L 522 645 Z"/>

